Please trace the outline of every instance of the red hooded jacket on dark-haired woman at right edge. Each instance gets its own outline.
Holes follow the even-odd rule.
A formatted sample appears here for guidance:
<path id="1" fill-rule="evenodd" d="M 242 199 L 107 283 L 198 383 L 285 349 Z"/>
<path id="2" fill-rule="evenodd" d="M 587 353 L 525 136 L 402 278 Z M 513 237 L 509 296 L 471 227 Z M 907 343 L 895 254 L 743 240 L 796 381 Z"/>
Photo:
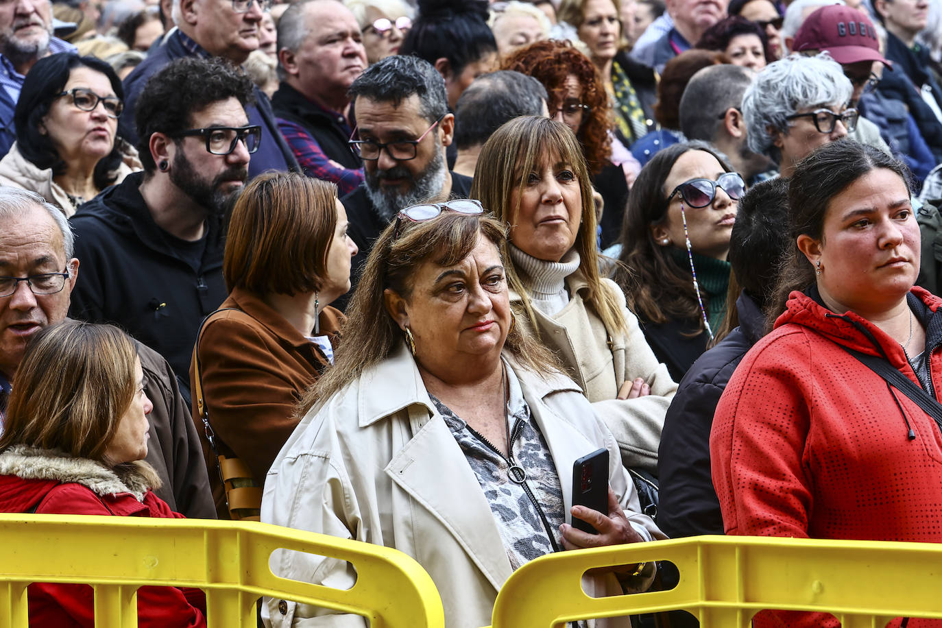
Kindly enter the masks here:
<path id="1" fill-rule="evenodd" d="M 909 302 L 926 328 L 932 387 L 942 390 L 942 299 L 917 287 Z M 713 420 L 710 459 L 726 534 L 942 542 L 942 430 L 894 389 L 903 416 L 885 380 L 840 347 L 880 355 L 874 343 L 918 383 L 885 332 L 791 293 L 775 330 L 739 363 Z M 839 624 L 763 612 L 754 625 Z"/>

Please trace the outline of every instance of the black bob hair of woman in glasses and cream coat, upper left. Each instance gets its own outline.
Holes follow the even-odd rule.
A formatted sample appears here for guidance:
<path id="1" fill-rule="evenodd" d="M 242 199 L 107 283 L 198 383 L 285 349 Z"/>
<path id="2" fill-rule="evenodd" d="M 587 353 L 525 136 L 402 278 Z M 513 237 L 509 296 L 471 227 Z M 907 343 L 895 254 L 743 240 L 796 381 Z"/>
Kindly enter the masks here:
<path id="1" fill-rule="evenodd" d="M 69 169 L 69 165 L 59 156 L 52 139 L 40 133 L 40 124 L 65 89 L 65 84 L 69 82 L 69 76 L 75 68 L 89 68 L 105 74 L 115 95 L 124 99 L 124 89 L 118 74 L 97 57 L 59 53 L 43 57 L 36 62 L 26 74 L 20 100 L 17 101 L 13 113 L 16 145 L 20 153 L 37 168 L 52 169 L 55 175 L 64 173 Z M 106 154 L 95 166 L 93 183 L 100 190 L 113 184 L 118 178 L 117 169 L 121 166 L 123 158 L 118 149 L 119 143 L 116 135 L 111 153 Z"/>

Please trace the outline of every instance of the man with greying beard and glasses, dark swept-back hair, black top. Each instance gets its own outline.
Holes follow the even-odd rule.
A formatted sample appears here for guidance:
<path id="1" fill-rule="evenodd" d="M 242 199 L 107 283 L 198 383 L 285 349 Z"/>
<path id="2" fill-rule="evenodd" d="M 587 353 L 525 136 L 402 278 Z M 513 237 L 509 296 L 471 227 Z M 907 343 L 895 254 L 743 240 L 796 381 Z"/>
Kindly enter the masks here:
<path id="1" fill-rule="evenodd" d="M 350 269 L 355 285 L 373 242 L 399 210 L 466 197 L 471 177 L 447 168 L 455 117 L 448 113 L 445 79 L 428 61 L 387 56 L 353 81 L 349 95 L 357 121 L 350 146 L 365 170 L 364 183 L 341 200 L 359 249 Z"/>

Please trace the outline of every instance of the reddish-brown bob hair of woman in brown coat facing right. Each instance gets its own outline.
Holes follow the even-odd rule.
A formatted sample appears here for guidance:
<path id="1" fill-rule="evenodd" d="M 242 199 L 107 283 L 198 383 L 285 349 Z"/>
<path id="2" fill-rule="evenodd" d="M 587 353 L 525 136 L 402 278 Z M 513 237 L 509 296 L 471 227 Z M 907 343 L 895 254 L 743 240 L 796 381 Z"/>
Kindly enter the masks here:
<path id="1" fill-rule="evenodd" d="M 226 288 L 292 296 L 320 290 L 337 228 L 336 203 L 336 185 L 298 172 L 252 179 L 229 221 Z"/>

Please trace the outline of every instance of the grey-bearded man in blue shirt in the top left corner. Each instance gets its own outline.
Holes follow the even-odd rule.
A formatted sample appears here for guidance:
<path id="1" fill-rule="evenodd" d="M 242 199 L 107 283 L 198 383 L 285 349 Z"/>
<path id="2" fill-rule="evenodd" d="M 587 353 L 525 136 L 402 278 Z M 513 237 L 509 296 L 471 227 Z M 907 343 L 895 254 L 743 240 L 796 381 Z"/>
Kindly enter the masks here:
<path id="1" fill-rule="evenodd" d="M 26 72 L 43 56 L 74 51 L 71 43 L 53 37 L 49 0 L 0 3 L 0 157 L 16 140 L 13 110 Z"/>

